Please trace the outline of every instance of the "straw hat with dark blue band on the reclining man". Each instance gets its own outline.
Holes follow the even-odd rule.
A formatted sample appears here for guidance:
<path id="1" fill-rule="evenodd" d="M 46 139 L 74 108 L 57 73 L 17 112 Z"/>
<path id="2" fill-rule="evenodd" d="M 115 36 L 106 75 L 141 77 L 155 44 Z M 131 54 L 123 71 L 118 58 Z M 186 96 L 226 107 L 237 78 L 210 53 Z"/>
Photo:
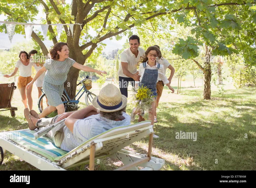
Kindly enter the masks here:
<path id="1" fill-rule="evenodd" d="M 102 112 L 116 112 L 127 104 L 127 97 L 113 84 L 108 84 L 100 90 L 97 97 L 92 100 L 92 105 Z"/>

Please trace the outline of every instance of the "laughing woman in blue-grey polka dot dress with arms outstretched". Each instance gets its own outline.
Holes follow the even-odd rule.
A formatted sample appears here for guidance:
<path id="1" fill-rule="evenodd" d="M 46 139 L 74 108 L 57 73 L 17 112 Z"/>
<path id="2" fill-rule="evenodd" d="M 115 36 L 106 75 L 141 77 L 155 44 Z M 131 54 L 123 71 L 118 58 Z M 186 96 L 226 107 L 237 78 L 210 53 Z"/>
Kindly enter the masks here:
<path id="1" fill-rule="evenodd" d="M 43 118 L 50 113 L 58 110 L 58 114 L 65 112 L 64 105 L 61 101 L 61 95 L 64 91 L 64 82 L 67 80 L 67 75 L 70 67 L 77 68 L 86 72 L 96 72 L 101 75 L 106 74 L 106 71 L 99 71 L 85 65 L 81 65 L 68 57 L 68 44 L 58 42 L 50 49 L 51 59 L 45 61 L 44 66 L 36 73 L 35 78 L 27 84 L 27 89 L 30 89 L 36 79 L 47 70 L 43 81 L 43 89 L 48 99 L 48 104 L 39 118 Z"/>

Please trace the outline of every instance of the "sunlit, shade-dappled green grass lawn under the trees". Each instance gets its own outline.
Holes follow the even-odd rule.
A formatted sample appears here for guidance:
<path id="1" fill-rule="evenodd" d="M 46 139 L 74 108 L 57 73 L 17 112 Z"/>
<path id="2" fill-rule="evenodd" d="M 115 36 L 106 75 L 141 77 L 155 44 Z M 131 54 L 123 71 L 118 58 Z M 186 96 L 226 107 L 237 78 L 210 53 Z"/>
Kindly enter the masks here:
<path id="1" fill-rule="evenodd" d="M 255 88 L 235 89 L 225 85 L 227 92 L 220 96 L 217 87 L 212 86 L 211 100 L 206 101 L 202 97 L 202 86 L 191 88 L 192 84 L 185 82 L 183 85 L 178 95 L 168 94 L 165 86 L 157 109 L 158 123 L 155 123 L 154 131 L 160 138 L 153 141 L 152 156 L 165 159 L 162 170 L 256 170 Z M 99 90 L 95 88 L 97 85 L 93 85 L 91 91 L 98 95 Z M 177 87 L 174 89 L 176 93 Z M 131 96 L 131 91 L 128 95 Z M 32 96 L 35 98 L 34 109 L 38 112 L 35 86 Z M 82 108 L 84 96 L 81 100 Z M 1 132 L 28 128 L 18 90 L 12 106 L 18 107 L 15 118 L 11 117 L 10 111 L 0 113 Z M 127 105 L 128 114 L 132 108 Z M 196 141 L 176 139 L 176 132 L 180 131 L 196 132 Z M 148 137 L 145 137 L 125 149 L 146 154 L 147 148 Z M 95 162 L 95 170 L 111 170 L 120 166 L 122 162 L 110 158 L 100 159 L 100 164 Z M 88 165 L 70 170 L 80 169 L 88 170 Z M 0 170 L 37 169 L 7 153 Z"/>

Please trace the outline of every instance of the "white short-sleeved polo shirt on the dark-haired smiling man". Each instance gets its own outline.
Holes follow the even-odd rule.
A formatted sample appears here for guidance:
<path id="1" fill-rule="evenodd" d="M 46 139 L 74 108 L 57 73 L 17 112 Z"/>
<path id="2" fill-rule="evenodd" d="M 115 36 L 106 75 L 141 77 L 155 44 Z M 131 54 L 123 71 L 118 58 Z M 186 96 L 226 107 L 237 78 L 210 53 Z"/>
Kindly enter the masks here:
<path id="1" fill-rule="evenodd" d="M 132 53 L 131 48 L 127 48 L 121 53 L 121 62 L 128 63 L 128 71 L 130 71 L 132 74 L 135 74 L 137 72 L 137 64 L 140 61 L 141 56 L 143 56 L 144 52 L 145 50 L 139 47 L 138 55 L 136 58 L 135 55 Z M 118 76 L 129 78 L 123 73 L 121 63 L 119 65 Z"/>

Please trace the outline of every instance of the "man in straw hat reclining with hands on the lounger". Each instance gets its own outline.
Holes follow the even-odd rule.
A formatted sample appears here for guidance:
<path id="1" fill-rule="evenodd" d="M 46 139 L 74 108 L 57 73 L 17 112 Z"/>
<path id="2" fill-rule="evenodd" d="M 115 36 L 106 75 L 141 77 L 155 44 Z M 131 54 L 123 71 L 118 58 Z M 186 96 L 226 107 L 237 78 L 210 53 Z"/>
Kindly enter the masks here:
<path id="1" fill-rule="evenodd" d="M 116 86 L 108 84 L 101 89 L 99 96 L 94 97 L 92 105 L 75 112 L 38 119 L 26 108 L 24 114 L 29 128 L 31 130 L 37 128 L 37 131 L 66 118 L 65 122 L 51 129 L 46 136 L 51 138 L 57 147 L 71 151 L 102 132 L 114 127 L 130 125 L 130 115 L 123 112 L 126 104 L 126 96 L 122 95 Z"/>

